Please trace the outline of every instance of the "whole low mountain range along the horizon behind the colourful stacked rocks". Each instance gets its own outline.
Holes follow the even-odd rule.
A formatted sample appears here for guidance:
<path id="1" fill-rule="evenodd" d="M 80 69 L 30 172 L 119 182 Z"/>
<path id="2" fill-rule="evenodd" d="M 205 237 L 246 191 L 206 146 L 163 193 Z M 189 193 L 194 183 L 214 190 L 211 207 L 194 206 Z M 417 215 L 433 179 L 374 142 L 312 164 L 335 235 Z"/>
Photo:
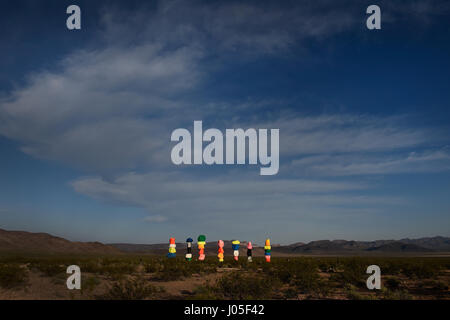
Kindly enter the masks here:
<path id="1" fill-rule="evenodd" d="M 225 242 L 225 254 L 232 255 L 231 240 Z M 158 244 L 130 244 L 100 242 L 73 242 L 47 233 L 6 231 L 0 229 L 0 252 L 32 252 L 52 254 L 156 254 L 168 252 L 168 242 Z M 184 255 L 186 243 L 177 243 L 177 252 Z M 217 254 L 217 241 L 205 246 L 207 255 Z M 240 254 L 246 255 L 247 242 L 242 241 Z M 193 243 L 193 253 L 197 252 Z M 450 253 L 449 237 L 427 237 L 419 239 L 348 241 L 319 240 L 309 243 L 297 242 L 290 245 L 272 245 L 272 253 L 278 256 L 290 255 L 370 255 L 370 254 L 436 254 Z M 253 243 L 253 255 L 264 255 L 263 246 Z"/>

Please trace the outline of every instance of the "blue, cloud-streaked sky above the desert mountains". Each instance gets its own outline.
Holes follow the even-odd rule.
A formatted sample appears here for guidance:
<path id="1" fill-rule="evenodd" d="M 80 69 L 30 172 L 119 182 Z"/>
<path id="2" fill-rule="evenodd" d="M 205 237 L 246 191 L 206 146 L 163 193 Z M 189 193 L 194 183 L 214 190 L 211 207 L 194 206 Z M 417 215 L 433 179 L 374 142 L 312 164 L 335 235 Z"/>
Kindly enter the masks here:
<path id="1" fill-rule="evenodd" d="M 446 1 L 3 1 L 0 228 L 450 236 L 449 17 Z M 171 132 L 194 120 L 278 128 L 278 174 L 174 165 Z"/>

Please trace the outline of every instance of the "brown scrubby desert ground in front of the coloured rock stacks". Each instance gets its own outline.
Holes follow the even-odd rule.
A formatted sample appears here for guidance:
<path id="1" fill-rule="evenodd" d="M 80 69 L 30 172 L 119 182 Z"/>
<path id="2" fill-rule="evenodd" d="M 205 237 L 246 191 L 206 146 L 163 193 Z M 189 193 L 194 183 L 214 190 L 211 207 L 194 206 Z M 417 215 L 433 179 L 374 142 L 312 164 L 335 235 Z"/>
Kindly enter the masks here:
<path id="1" fill-rule="evenodd" d="M 69 265 L 81 290 L 69 290 Z M 381 268 L 368 290 L 368 265 Z M 450 257 L 0 256 L 0 299 L 450 299 Z"/>

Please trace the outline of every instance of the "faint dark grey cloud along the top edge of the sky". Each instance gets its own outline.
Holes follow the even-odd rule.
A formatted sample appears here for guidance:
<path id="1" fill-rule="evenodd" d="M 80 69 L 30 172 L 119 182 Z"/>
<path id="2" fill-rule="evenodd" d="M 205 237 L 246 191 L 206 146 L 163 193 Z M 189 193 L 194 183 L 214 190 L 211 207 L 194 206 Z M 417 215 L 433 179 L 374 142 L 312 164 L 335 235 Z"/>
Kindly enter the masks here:
<path id="1" fill-rule="evenodd" d="M 327 4 L 327 6 L 324 6 Z M 355 10 L 356 11 L 356 10 Z M 205 47 L 209 54 L 276 53 L 305 39 L 321 39 L 359 22 L 355 11 L 324 3 L 160 1 L 157 10 L 115 10 L 103 15 L 106 42 L 151 40 Z"/>

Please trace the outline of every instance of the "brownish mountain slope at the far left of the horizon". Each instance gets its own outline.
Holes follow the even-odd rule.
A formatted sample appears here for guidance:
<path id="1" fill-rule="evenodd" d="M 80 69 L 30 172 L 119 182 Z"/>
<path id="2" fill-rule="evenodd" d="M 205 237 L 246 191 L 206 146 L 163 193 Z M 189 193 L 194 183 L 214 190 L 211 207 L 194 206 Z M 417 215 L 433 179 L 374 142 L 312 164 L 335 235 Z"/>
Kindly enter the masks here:
<path id="1" fill-rule="evenodd" d="M 0 229 L 0 252 L 120 254 L 100 242 L 72 242 L 47 233 L 6 231 Z"/>

